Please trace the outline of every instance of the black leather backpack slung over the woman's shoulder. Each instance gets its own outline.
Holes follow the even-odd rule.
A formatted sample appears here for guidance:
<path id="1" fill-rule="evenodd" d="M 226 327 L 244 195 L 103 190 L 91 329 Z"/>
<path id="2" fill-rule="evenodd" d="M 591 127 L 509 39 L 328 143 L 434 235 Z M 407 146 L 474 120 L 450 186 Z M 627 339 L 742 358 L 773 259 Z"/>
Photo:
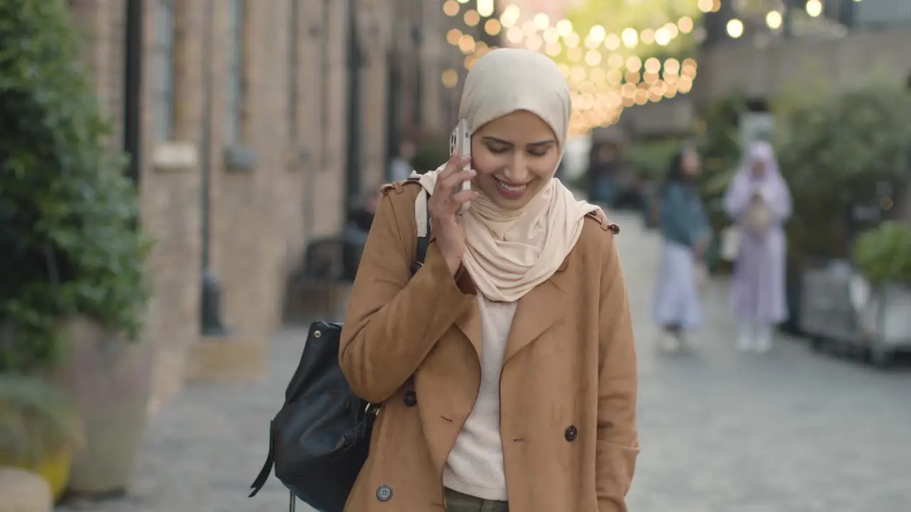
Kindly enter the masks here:
<path id="1" fill-rule="evenodd" d="M 424 264 L 430 238 L 417 239 L 414 274 Z M 354 479 L 370 449 L 370 435 L 379 404 L 352 393 L 339 366 L 341 323 L 310 326 L 301 362 L 285 391 L 284 404 L 269 429 L 269 456 L 251 485 L 256 496 L 275 476 L 295 497 L 319 512 L 342 512 Z"/>

